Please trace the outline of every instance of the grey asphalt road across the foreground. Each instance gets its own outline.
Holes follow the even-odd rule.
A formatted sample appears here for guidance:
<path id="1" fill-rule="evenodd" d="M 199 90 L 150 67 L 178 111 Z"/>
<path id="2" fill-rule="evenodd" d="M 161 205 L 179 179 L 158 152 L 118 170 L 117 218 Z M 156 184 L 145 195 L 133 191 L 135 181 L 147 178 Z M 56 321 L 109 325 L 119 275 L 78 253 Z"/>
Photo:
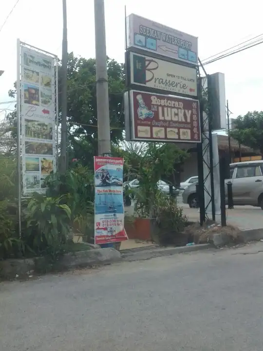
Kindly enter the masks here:
<path id="1" fill-rule="evenodd" d="M 260 351 L 263 243 L 0 284 L 1 351 Z"/>

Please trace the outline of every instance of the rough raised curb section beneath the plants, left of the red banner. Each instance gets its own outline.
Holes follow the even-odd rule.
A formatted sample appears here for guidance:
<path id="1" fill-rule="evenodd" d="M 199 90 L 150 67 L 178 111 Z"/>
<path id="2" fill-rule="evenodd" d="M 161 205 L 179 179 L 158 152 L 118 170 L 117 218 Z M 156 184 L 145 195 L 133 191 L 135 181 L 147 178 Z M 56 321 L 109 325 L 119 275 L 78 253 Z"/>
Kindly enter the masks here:
<path id="1" fill-rule="evenodd" d="M 52 270 L 67 270 L 76 267 L 104 265 L 121 260 L 121 253 L 113 248 L 79 251 L 65 254 L 57 262 L 50 262 L 48 257 L 31 259 L 7 259 L 0 261 L 0 278 L 14 279 L 33 274 L 36 271 L 46 273 Z"/>

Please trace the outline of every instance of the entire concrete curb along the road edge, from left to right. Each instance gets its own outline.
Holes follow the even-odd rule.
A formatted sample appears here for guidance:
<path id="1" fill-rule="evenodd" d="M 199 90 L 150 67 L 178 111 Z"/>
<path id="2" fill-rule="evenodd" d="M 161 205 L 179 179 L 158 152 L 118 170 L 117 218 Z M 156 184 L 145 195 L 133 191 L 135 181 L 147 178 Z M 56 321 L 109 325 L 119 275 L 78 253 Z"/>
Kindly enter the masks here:
<path id="1" fill-rule="evenodd" d="M 243 231 L 241 233 L 244 242 L 257 241 L 263 239 L 263 229 L 255 229 Z M 229 244 L 229 240 L 225 236 L 219 246 Z M 169 247 L 169 248 L 149 248 L 141 251 L 129 251 L 120 253 L 113 248 L 95 249 L 89 251 L 79 251 L 76 253 L 65 254 L 57 262 L 52 263 L 54 270 L 67 270 L 77 267 L 99 266 L 110 264 L 118 261 L 139 261 L 148 260 L 154 257 L 169 256 L 173 254 L 189 253 L 199 250 L 207 250 L 213 248 L 212 244 L 200 244 L 192 246 Z M 46 257 L 37 257 L 34 259 L 8 259 L 0 261 L 0 278 L 14 279 L 25 277 L 32 274 L 34 271 L 45 269 L 50 262 L 47 262 Z M 47 269 L 48 271 L 48 269 Z"/>

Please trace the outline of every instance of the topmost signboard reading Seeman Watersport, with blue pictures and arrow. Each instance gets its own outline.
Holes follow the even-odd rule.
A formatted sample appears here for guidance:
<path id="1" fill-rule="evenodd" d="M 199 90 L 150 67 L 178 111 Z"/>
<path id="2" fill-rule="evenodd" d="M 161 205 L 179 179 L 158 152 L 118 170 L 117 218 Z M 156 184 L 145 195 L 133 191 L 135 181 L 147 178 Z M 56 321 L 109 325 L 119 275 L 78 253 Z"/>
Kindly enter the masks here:
<path id="1" fill-rule="evenodd" d="M 196 37 L 134 14 L 128 16 L 126 23 L 127 48 L 137 47 L 197 65 Z"/>

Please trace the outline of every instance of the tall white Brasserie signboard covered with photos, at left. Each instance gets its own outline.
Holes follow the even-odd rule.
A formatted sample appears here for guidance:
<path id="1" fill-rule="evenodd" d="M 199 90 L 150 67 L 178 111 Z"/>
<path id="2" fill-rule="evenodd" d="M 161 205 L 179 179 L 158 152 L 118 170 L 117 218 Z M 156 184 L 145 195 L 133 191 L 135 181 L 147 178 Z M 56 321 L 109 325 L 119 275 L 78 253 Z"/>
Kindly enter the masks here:
<path id="1" fill-rule="evenodd" d="M 20 45 L 23 195 L 45 194 L 56 172 L 55 57 Z"/>

